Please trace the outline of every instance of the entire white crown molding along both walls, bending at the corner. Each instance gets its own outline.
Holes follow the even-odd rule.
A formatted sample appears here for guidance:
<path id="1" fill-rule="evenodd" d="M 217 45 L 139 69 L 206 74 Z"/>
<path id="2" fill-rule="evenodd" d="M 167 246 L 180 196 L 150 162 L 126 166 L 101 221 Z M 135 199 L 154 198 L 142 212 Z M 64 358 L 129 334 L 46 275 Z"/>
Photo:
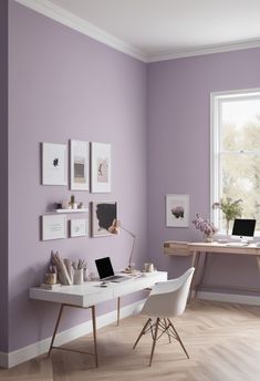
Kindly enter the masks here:
<path id="1" fill-rule="evenodd" d="M 72 28 L 92 39 L 100 41 L 115 50 L 118 50 L 127 55 L 131 55 L 142 62 L 153 63 L 159 61 L 176 60 L 189 56 L 214 54 L 214 53 L 225 53 L 236 50 L 253 49 L 260 48 L 260 40 L 248 40 L 248 41 L 237 41 L 231 44 L 218 44 L 215 47 L 202 47 L 199 49 L 180 51 L 177 53 L 162 53 L 162 54 L 146 54 L 141 50 L 127 44 L 126 42 L 115 38 L 114 35 L 103 31 L 102 29 L 84 21 L 83 19 L 76 17 L 75 14 L 64 10 L 63 8 L 53 4 L 49 0 L 14 0 L 20 4 L 31 8 L 34 11 L 44 14 L 69 28 Z"/>

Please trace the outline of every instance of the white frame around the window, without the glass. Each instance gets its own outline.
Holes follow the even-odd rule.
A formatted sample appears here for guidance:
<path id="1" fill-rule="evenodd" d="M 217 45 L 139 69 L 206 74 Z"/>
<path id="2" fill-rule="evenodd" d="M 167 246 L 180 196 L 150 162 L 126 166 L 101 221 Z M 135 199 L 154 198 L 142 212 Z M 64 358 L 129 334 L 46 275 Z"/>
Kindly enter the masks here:
<path id="1" fill-rule="evenodd" d="M 221 198 L 220 178 L 220 104 L 227 100 L 260 99 L 260 89 L 235 90 L 210 93 L 210 219 L 215 226 L 219 227 L 220 214 L 212 209 L 212 204 Z M 218 235 L 223 235 L 225 230 L 219 230 Z M 254 236 L 260 236 L 256 231 Z"/>

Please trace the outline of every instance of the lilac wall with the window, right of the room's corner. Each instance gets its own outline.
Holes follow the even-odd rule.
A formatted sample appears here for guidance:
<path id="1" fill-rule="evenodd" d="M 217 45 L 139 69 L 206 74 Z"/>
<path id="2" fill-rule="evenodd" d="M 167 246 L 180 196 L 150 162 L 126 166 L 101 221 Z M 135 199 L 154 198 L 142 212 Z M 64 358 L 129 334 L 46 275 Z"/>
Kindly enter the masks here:
<path id="1" fill-rule="evenodd" d="M 260 87 L 260 49 L 148 65 L 148 253 L 177 276 L 190 258 L 163 254 L 164 240 L 200 240 L 165 226 L 165 195 L 190 196 L 190 220 L 210 215 L 210 92 Z M 206 281 L 260 287 L 256 258 L 211 256 Z"/>

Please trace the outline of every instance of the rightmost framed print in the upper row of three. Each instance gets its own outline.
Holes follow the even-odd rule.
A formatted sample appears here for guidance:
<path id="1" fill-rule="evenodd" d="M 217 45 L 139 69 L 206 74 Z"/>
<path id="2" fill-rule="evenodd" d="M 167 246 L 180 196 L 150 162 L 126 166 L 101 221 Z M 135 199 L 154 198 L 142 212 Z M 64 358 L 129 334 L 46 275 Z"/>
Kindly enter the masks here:
<path id="1" fill-rule="evenodd" d="M 111 144 L 91 143 L 91 192 L 111 192 Z"/>

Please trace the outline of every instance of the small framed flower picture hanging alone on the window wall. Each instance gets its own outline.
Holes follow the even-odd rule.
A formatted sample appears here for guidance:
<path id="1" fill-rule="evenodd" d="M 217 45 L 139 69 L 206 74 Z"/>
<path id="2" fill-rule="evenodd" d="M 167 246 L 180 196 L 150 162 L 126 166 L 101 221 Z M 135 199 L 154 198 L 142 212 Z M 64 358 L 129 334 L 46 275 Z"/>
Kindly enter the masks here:
<path id="1" fill-rule="evenodd" d="M 166 195 L 166 226 L 189 226 L 189 195 Z"/>

